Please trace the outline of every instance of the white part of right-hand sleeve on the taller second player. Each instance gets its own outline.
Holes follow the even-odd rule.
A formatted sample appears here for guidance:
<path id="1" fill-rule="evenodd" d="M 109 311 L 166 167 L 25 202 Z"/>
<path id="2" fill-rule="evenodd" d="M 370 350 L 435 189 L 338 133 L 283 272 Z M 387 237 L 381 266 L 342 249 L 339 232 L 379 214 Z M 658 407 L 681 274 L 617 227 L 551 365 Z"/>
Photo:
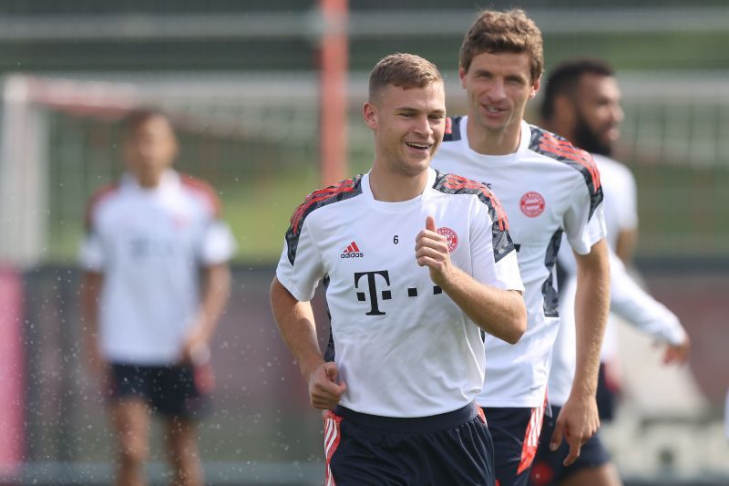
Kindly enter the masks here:
<path id="1" fill-rule="evenodd" d="M 602 202 L 590 213 L 590 189 L 581 177 L 577 182 L 579 187 L 571 191 L 570 205 L 562 224 L 572 249 L 580 254 L 588 254 L 592 245 L 607 234 L 605 213 Z"/>

